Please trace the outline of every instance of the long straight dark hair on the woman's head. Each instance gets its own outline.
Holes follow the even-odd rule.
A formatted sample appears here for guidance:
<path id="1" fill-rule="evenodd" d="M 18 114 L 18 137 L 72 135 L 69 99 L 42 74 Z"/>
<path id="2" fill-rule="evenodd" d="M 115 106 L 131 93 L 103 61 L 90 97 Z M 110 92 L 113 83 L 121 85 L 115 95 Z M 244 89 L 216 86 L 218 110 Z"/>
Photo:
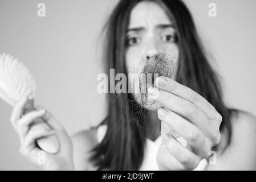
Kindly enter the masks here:
<path id="1" fill-rule="evenodd" d="M 105 71 L 115 69 L 115 73 L 125 73 L 125 34 L 133 7 L 141 1 L 121 0 L 112 11 L 105 24 Z M 197 35 L 192 15 L 180 0 L 155 0 L 164 8 L 176 26 L 178 48 L 180 50 L 176 81 L 188 86 L 212 104 L 222 115 L 220 130 L 227 130 L 227 145 L 231 138 L 231 111 L 222 98 L 221 85 L 209 64 Z M 102 142 L 92 151 L 91 160 L 98 169 L 137 170 L 143 162 L 145 115 L 132 94 L 108 94 L 108 114 L 102 123 L 108 129 Z M 139 112 L 138 112 L 139 110 Z M 226 145 L 226 146 L 227 146 Z"/>

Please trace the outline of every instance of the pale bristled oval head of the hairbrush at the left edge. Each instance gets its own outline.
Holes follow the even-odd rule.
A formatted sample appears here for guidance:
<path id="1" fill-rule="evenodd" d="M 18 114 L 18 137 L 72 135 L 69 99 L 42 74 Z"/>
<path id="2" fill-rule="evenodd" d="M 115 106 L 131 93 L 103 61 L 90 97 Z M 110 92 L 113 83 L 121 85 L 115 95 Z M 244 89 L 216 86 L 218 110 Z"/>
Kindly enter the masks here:
<path id="1" fill-rule="evenodd" d="M 0 97 L 14 106 L 24 97 L 35 97 L 35 79 L 29 69 L 13 56 L 0 55 Z"/>

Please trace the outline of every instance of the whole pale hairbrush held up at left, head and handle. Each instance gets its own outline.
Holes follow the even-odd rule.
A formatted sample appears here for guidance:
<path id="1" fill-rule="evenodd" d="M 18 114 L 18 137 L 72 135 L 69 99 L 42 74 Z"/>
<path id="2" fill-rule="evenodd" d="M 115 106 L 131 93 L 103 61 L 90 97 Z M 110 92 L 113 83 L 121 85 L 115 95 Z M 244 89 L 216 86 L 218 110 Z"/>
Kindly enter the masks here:
<path id="1" fill-rule="evenodd" d="M 0 98 L 11 106 L 15 106 L 23 98 L 28 102 L 24 107 L 23 114 L 36 110 L 34 98 L 36 93 L 36 82 L 29 69 L 21 61 L 14 59 L 6 53 L 0 54 Z M 42 125 L 51 129 L 43 118 L 35 119 L 30 127 Z M 36 144 L 44 151 L 55 154 L 59 150 L 59 142 L 56 135 L 39 138 Z"/>

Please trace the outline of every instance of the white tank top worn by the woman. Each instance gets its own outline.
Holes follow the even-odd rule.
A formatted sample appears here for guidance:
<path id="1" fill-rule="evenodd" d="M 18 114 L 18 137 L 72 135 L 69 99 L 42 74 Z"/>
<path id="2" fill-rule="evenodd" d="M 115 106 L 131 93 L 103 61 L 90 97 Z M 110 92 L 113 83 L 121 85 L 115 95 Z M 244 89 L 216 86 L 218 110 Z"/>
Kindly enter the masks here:
<path id="1" fill-rule="evenodd" d="M 97 141 L 100 143 L 103 140 L 105 133 L 107 132 L 107 125 L 100 125 L 97 129 Z M 177 140 L 183 145 L 186 146 L 186 140 L 182 137 L 178 137 Z M 140 171 L 158 171 L 159 168 L 156 162 L 157 151 L 161 144 L 161 136 L 157 138 L 155 141 L 150 139 L 146 139 L 145 144 L 145 153 L 143 163 L 141 164 Z M 208 165 L 208 161 L 206 159 L 202 159 L 199 165 L 194 169 L 194 171 L 202 171 Z"/>

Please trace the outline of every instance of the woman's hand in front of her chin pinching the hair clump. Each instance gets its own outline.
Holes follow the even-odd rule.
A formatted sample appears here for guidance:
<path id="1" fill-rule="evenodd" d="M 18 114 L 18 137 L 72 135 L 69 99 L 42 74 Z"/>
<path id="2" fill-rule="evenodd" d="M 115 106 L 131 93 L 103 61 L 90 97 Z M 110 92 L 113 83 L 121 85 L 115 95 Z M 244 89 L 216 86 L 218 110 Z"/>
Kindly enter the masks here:
<path id="1" fill-rule="evenodd" d="M 148 92 L 149 99 L 164 106 L 157 111 L 163 135 L 157 164 L 161 170 L 194 169 L 220 143 L 222 117 L 204 97 L 170 78 L 158 77 L 156 85 L 159 90 Z M 188 145 L 182 146 L 177 137 Z"/>

